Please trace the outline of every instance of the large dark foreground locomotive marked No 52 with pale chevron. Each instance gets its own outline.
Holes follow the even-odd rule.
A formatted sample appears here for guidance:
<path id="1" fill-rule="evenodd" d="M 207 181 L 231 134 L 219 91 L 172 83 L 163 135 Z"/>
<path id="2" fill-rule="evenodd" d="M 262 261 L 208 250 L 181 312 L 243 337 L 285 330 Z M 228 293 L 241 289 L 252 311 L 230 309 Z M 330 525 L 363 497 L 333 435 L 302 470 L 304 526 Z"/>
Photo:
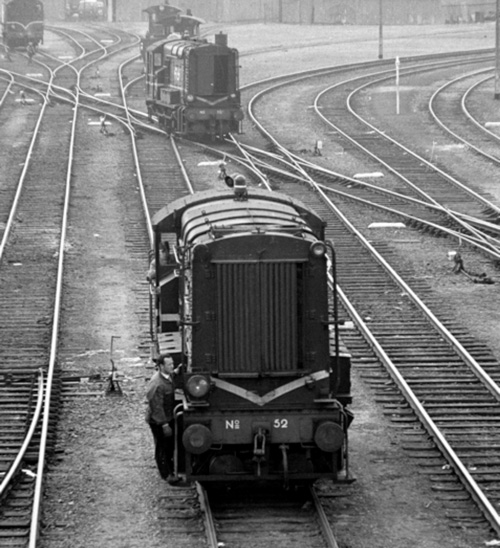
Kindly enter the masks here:
<path id="1" fill-rule="evenodd" d="M 350 357 L 321 218 L 236 185 L 177 200 L 153 226 L 153 354 L 182 371 L 178 468 L 207 483 L 348 479 Z"/>

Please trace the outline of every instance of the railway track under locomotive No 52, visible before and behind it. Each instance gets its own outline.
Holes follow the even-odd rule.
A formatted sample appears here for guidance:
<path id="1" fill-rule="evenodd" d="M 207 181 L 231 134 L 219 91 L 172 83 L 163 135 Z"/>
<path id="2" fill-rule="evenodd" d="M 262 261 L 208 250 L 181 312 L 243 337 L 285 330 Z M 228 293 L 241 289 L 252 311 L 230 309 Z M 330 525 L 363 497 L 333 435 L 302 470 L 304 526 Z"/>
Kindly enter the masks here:
<path id="1" fill-rule="evenodd" d="M 206 160 L 203 150 L 199 151 L 188 142 L 176 142 L 173 139 L 158 139 L 157 136 L 143 135 L 134 141 L 136 151 L 136 172 L 141 185 L 141 194 L 144 198 L 144 209 L 148 216 L 152 216 L 158 209 L 174 199 L 193 192 L 207 190 L 217 183 L 217 162 Z M 189 174 L 184 164 L 189 166 Z M 194 167 L 197 166 L 197 167 Z M 146 223 L 149 225 L 146 218 Z M 152 234 L 148 228 L 150 237 Z M 249 531 L 260 523 L 261 537 L 256 543 L 269 542 L 272 539 L 275 546 L 328 546 L 337 547 L 334 534 L 328 520 L 324 516 L 321 503 L 317 495 L 311 491 L 309 499 L 303 494 L 294 502 L 290 502 L 289 494 L 285 492 L 263 495 L 256 492 L 254 496 L 241 499 L 239 490 L 207 494 L 197 484 L 199 496 L 199 517 L 203 517 L 207 544 L 210 547 L 224 545 L 239 545 L 248 543 Z M 247 490 L 247 489 L 246 489 Z M 167 495 L 172 500 L 178 500 L 178 493 Z M 181 499 L 191 497 L 190 491 L 182 491 Z M 309 500 L 309 502 L 307 502 Z M 175 502 L 172 503 L 175 506 Z M 306 508 L 304 507 L 306 505 Z M 170 508 L 172 508 L 169 505 Z M 198 504 L 195 506 L 198 508 Z M 245 510 L 242 510 L 245 508 Z M 170 514 L 175 519 L 176 509 Z M 319 517 L 318 517 L 319 516 Z M 169 519 L 171 519 L 169 517 Z M 279 523 L 279 528 L 276 524 Z M 268 524 L 268 526 L 266 526 Z M 199 531 L 200 526 L 193 528 Z M 177 530 L 177 527 L 174 526 Z M 279 530 L 278 530 L 279 529 Z M 181 536 L 185 533 L 180 527 Z M 180 542 L 181 540 L 178 539 Z M 312 542 L 312 544 L 311 544 Z"/>

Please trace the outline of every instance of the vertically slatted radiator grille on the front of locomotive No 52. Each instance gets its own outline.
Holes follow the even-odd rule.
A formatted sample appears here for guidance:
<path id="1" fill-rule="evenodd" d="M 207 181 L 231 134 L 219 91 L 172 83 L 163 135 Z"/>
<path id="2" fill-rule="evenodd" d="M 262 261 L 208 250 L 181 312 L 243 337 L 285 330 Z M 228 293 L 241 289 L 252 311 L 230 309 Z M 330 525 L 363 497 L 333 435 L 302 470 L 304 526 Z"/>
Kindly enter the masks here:
<path id="1" fill-rule="evenodd" d="M 297 368 L 297 286 L 295 263 L 217 265 L 221 373 Z"/>

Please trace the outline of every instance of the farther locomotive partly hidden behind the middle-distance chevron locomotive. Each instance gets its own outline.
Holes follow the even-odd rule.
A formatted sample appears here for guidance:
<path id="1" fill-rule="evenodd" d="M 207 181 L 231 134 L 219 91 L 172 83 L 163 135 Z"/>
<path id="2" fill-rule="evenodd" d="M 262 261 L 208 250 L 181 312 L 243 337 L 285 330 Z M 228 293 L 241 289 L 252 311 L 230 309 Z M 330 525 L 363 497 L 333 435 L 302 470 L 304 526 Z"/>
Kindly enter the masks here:
<path id="1" fill-rule="evenodd" d="M 148 15 L 148 30 L 141 39 L 141 55 L 146 57 L 146 49 L 167 37 L 175 38 L 198 38 L 202 19 L 193 17 L 189 12 L 183 14 L 180 8 L 168 4 L 149 6 L 142 10 Z"/>

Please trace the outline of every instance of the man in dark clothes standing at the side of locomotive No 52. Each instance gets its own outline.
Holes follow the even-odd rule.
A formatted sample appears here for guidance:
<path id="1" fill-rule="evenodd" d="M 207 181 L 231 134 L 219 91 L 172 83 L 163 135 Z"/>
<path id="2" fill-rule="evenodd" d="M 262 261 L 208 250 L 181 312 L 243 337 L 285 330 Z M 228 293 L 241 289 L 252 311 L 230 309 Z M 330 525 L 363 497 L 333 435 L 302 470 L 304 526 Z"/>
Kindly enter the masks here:
<path id="1" fill-rule="evenodd" d="M 163 479 L 170 484 L 178 483 L 174 475 L 173 456 L 175 447 L 175 386 L 174 362 L 169 354 L 162 354 L 156 361 L 157 371 L 149 381 L 146 397 L 148 409 L 146 422 L 155 441 L 155 460 Z"/>

